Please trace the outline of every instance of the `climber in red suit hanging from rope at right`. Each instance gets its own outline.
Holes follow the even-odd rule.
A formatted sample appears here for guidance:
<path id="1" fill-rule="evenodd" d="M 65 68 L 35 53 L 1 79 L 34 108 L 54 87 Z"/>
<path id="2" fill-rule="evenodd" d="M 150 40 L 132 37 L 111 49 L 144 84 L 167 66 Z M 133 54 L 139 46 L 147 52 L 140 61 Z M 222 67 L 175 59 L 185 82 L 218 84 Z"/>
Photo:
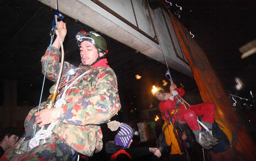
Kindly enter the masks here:
<path id="1" fill-rule="evenodd" d="M 185 91 L 183 88 L 177 88 L 175 84 L 170 87 L 170 93 L 165 92 L 161 87 L 153 87 L 153 95 L 161 101 L 159 109 L 162 114 L 162 119 L 166 123 L 178 121 L 181 124 L 188 124 L 195 135 L 195 140 L 204 148 L 211 149 L 214 145 L 219 144 L 219 141 L 213 137 L 211 130 L 206 131 L 204 128 L 200 131 L 197 122 L 197 116 L 203 115 L 201 123 L 208 129 L 211 129 L 214 123 L 215 106 L 213 103 L 206 102 L 189 106 L 181 98 Z M 189 108 L 188 108 L 189 107 Z"/>

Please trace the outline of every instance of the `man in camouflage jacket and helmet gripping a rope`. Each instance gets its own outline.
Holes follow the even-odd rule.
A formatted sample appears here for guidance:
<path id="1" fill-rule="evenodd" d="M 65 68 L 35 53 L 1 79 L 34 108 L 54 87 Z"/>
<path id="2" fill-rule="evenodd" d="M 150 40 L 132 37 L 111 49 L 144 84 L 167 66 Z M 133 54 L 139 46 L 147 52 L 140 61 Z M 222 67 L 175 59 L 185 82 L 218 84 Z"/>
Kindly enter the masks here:
<path id="1" fill-rule="evenodd" d="M 61 66 L 59 38 L 62 36 L 64 40 L 67 33 L 65 23 L 60 21 L 58 25 L 61 35 L 56 32 L 57 37 L 51 47 L 46 75 L 48 79 L 55 82 Z M 103 37 L 95 32 L 79 31 L 76 38 L 80 47 L 81 64 L 75 67 L 64 62 L 56 98 L 61 99 L 61 96 L 66 94 L 64 100 L 67 103 L 59 108 L 44 109 L 46 102 L 43 102 L 40 112 L 37 112 L 37 107 L 31 109 L 24 123 L 25 133 L 28 135 L 35 121 L 39 127 L 42 127 L 58 120 L 52 129 L 53 134 L 46 138 L 45 143 L 34 148 L 29 147 L 30 137 L 25 136 L 0 160 L 70 160 L 74 157 L 73 150 L 85 156 L 92 156 L 94 152 L 101 151 L 103 143 L 99 124 L 106 123 L 121 108 L 117 78 L 114 71 L 107 65 L 106 41 Z M 45 73 L 48 52 L 47 49 L 41 59 L 42 73 Z M 75 82 L 74 79 L 67 81 L 70 69 L 76 72 L 73 77 L 78 77 L 85 72 L 86 74 Z M 73 85 L 63 94 L 63 86 L 72 83 Z M 56 84 L 51 87 L 51 94 L 55 86 Z"/>

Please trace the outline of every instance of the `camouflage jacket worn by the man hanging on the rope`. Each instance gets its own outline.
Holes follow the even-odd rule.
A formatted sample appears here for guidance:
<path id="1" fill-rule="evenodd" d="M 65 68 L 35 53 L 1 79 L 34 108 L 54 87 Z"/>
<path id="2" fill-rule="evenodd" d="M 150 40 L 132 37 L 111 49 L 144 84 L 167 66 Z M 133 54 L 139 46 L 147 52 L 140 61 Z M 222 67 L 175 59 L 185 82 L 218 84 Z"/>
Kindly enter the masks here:
<path id="1" fill-rule="evenodd" d="M 45 73 L 48 50 L 42 56 L 42 73 Z M 61 53 L 52 47 L 48 60 L 46 76 L 52 81 L 57 81 L 61 63 Z M 77 69 L 74 65 L 64 62 L 63 73 L 59 87 L 67 78 L 67 71 Z M 116 115 L 121 108 L 117 77 L 109 67 L 79 66 L 77 74 L 83 74 L 89 70 L 66 92 L 64 98 L 67 104 L 62 108 L 61 117 L 53 128 L 61 140 L 64 140 L 75 151 L 86 156 L 92 156 L 94 152 L 102 149 L 102 131 L 98 124 L 106 123 Z M 52 94 L 55 85 L 50 88 Z M 60 98 L 62 88 L 56 99 Z"/>

